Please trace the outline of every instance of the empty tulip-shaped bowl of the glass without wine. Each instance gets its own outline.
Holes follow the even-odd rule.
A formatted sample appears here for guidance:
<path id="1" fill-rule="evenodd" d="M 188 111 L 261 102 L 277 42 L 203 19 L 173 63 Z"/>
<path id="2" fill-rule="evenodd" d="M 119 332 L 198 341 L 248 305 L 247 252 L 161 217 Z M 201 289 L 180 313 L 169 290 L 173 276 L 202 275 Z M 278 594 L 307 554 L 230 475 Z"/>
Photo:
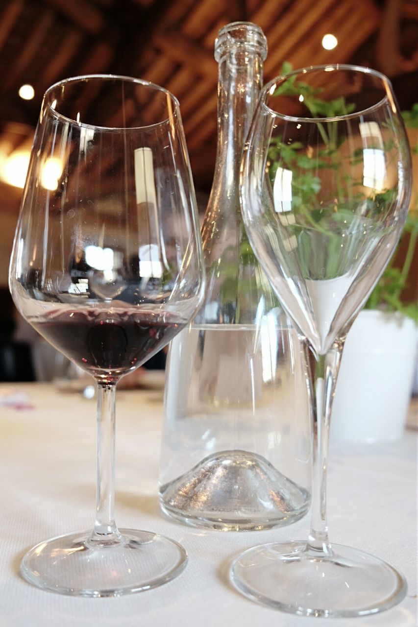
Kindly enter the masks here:
<path id="1" fill-rule="evenodd" d="M 318 354 L 362 307 L 404 224 L 409 157 L 392 107 L 382 75 L 324 66 L 269 83 L 255 115 L 244 219 Z"/>

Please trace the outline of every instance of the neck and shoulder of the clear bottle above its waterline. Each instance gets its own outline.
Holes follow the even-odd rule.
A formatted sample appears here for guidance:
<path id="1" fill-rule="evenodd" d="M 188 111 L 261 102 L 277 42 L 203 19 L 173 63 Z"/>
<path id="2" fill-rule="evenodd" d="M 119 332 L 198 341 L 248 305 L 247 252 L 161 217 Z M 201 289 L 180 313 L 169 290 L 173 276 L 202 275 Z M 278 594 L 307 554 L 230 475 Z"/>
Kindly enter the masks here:
<path id="1" fill-rule="evenodd" d="M 221 50 L 215 46 L 219 64 L 217 159 L 201 230 L 206 300 L 195 324 L 253 324 L 260 313 L 261 296 L 263 303 L 272 299 L 249 251 L 239 177 L 242 148 L 262 85 L 265 46 L 223 43 Z"/>

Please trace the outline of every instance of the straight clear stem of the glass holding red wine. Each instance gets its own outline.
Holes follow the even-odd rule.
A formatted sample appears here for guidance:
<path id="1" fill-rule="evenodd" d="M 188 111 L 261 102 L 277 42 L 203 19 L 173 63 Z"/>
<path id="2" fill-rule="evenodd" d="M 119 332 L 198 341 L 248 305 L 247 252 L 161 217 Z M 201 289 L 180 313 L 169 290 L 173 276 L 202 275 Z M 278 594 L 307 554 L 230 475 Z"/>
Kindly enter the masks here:
<path id="1" fill-rule="evenodd" d="M 97 502 L 92 542 L 114 544 L 121 534 L 114 520 L 115 502 L 115 395 L 116 386 L 98 385 L 97 398 Z"/>

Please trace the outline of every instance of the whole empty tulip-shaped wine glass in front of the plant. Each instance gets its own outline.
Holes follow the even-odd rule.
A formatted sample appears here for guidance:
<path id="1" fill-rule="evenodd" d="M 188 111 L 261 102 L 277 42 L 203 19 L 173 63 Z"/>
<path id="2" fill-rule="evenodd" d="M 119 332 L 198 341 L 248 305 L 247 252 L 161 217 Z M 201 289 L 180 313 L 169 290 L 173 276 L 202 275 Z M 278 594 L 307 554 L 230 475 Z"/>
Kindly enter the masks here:
<path id="1" fill-rule="evenodd" d="M 308 340 L 312 519 L 308 540 L 249 549 L 231 577 L 246 596 L 289 613 L 377 613 L 406 593 L 389 564 L 331 546 L 326 463 L 345 337 L 394 251 L 409 194 L 407 139 L 385 76 L 328 65 L 264 87 L 242 158 L 242 212 L 260 264 Z"/>

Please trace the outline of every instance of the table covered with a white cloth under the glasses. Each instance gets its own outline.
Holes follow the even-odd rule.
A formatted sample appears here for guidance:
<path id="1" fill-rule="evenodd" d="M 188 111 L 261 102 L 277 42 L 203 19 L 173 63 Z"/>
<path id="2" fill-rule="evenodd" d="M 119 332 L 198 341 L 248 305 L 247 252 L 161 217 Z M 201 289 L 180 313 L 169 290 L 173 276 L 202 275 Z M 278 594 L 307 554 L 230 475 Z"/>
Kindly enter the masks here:
<path id="1" fill-rule="evenodd" d="M 163 377 L 117 400 L 116 520 L 168 535 L 189 554 L 168 584 L 121 598 L 87 599 L 41 591 L 23 581 L 19 562 L 53 535 L 89 529 L 95 507 L 95 401 L 53 384 L 0 385 L 1 627 L 415 627 L 417 624 L 416 434 L 384 445 L 331 447 L 328 505 L 331 540 L 370 552 L 407 577 L 405 600 L 377 616 L 313 619 L 264 608 L 238 594 L 228 568 L 256 544 L 303 539 L 309 519 L 262 532 L 193 529 L 158 507 Z M 18 408 L 4 406 L 16 400 Z"/>

